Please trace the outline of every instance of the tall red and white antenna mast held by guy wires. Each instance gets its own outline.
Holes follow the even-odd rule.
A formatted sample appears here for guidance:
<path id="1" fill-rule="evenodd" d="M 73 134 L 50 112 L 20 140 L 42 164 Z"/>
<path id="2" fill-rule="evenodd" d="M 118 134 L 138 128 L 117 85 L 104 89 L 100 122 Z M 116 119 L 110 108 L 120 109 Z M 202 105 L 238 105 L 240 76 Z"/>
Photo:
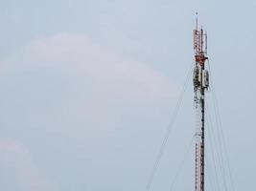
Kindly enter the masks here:
<path id="1" fill-rule="evenodd" d="M 207 34 L 202 28 L 198 30 L 198 12 L 196 29 L 194 30 L 194 51 L 195 69 L 193 75 L 194 101 L 196 106 L 196 191 L 204 191 L 204 101 L 205 91 L 209 87 L 209 74 L 205 70 L 205 60 L 207 57 Z"/>

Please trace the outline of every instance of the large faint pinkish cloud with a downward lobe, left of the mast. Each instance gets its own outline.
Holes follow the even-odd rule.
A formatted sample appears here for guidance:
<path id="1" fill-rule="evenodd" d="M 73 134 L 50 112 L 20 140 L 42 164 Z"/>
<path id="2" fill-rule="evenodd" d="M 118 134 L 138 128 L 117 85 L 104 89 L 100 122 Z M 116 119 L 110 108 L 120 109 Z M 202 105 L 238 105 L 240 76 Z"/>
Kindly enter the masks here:
<path id="1" fill-rule="evenodd" d="M 120 108 L 160 108 L 175 100 L 177 87 L 144 63 L 126 59 L 84 35 L 59 34 L 25 47 L 23 62 L 53 65 L 81 75 L 90 96 L 81 100 L 81 113 L 93 126 L 113 126 Z M 81 87 L 82 88 L 82 87 Z M 100 119 L 99 119 L 100 118 Z"/>

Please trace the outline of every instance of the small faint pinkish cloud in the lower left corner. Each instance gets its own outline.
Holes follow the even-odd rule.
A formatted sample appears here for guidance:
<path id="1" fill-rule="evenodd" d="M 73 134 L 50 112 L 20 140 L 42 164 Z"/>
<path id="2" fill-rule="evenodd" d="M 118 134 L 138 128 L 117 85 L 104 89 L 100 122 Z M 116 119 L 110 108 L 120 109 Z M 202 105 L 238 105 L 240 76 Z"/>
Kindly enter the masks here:
<path id="1" fill-rule="evenodd" d="M 43 178 L 35 167 L 29 150 L 24 144 L 13 140 L 0 140 L 0 164 L 13 172 L 12 184 L 26 191 L 53 191 L 53 186 Z M 13 180 L 17 180 L 13 181 Z"/>

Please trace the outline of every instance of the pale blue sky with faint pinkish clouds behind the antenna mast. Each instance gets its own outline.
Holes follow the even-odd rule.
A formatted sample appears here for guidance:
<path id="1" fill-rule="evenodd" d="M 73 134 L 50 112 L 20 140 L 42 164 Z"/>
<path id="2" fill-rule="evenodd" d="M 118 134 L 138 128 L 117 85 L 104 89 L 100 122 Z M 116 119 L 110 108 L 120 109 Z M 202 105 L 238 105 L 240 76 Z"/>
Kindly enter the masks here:
<path id="1" fill-rule="evenodd" d="M 253 0 L 2 0 L 0 190 L 145 190 L 193 63 L 197 11 L 234 184 L 253 190 L 255 10 Z M 195 130 L 190 80 L 152 190 L 194 189 L 193 147 L 178 167 Z"/>

